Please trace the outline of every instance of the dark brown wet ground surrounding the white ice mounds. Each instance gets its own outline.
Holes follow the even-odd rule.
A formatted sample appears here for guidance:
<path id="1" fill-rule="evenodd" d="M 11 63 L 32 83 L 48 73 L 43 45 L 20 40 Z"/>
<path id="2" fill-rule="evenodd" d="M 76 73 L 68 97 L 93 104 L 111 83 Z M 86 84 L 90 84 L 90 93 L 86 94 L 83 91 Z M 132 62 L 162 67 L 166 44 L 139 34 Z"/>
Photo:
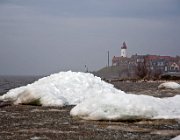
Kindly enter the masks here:
<path id="1" fill-rule="evenodd" d="M 21 81 L 23 85 L 22 79 L 16 79 L 14 87 L 17 81 Z M 28 80 L 25 81 L 24 83 L 27 84 Z M 13 85 L 12 83 L 13 80 L 10 85 Z M 113 84 L 134 94 L 157 97 L 180 94 L 178 90 L 157 90 L 160 83 L 115 82 Z M 169 140 L 180 135 L 180 120 L 85 121 L 69 115 L 72 107 L 3 106 L 0 108 L 0 139 Z"/>

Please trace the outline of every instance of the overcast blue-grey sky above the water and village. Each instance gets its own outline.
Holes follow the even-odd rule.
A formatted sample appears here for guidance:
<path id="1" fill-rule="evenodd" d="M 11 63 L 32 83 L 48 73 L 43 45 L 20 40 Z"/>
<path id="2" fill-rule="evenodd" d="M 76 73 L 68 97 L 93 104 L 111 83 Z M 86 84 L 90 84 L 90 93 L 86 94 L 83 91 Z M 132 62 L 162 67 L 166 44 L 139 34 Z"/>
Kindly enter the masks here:
<path id="1" fill-rule="evenodd" d="M 0 0 L 0 75 L 98 70 L 120 56 L 180 55 L 179 0 Z"/>

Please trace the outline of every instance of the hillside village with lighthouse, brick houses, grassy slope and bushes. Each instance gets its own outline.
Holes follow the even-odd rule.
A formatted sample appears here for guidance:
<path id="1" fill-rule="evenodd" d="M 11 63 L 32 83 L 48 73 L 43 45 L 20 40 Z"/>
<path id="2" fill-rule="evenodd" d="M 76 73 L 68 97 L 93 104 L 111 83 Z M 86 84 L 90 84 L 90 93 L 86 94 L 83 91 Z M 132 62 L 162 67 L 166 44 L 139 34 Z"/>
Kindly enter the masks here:
<path id="1" fill-rule="evenodd" d="M 112 66 L 101 69 L 97 75 L 105 79 L 180 79 L 180 56 L 132 55 L 127 56 L 127 44 L 123 42 L 121 55 L 113 56 Z"/>

